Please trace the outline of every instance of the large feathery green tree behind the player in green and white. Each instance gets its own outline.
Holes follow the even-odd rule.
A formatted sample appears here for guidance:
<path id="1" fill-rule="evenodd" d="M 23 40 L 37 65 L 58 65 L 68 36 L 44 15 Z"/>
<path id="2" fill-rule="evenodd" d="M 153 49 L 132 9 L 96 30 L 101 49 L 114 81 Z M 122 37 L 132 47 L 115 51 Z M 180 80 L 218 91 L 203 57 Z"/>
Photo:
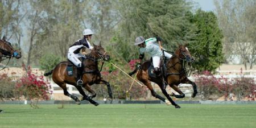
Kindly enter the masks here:
<path id="1" fill-rule="evenodd" d="M 119 5 L 123 20 L 118 24 L 112 51 L 119 53 L 127 62 L 138 59 L 137 36 L 163 39 L 163 47 L 173 51 L 177 43 L 194 36 L 193 25 L 188 20 L 190 3 L 185 1 L 125 1 Z M 148 57 L 146 57 L 148 59 Z"/>

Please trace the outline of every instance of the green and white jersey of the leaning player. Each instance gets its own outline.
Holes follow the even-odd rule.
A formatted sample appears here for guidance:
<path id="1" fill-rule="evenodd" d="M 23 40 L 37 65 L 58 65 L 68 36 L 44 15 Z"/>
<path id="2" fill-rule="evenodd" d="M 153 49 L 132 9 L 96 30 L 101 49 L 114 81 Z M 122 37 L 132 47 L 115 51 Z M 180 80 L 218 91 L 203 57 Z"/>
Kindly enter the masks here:
<path id="1" fill-rule="evenodd" d="M 163 53 L 159 47 L 158 42 L 156 42 L 156 38 L 149 38 L 145 40 L 146 47 L 139 48 L 139 53 L 142 54 L 144 52 L 149 53 L 151 56 L 162 56 Z"/>

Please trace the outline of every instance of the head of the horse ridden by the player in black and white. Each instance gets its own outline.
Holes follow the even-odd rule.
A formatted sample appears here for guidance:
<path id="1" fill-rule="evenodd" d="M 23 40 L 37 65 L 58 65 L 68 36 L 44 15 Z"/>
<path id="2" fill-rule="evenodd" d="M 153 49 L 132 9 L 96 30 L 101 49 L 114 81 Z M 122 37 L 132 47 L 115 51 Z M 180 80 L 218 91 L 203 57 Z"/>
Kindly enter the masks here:
<path id="1" fill-rule="evenodd" d="M 103 47 L 101 47 L 101 44 L 99 46 L 96 46 L 95 44 L 93 44 L 93 49 L 92 49 L 92 55 L 96 58 L 100 58 L 102 60 L 106 60 L 109 61 L 110 60 L 110 56 L 108 55 L 108 53 L 105 51 L 105 49 Z"/>

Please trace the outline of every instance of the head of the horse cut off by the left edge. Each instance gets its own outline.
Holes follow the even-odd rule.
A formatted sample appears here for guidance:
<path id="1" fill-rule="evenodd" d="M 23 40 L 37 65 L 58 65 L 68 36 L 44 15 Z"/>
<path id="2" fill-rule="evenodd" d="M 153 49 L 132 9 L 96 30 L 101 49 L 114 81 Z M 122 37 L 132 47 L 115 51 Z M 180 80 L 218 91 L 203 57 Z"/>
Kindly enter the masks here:
<path id="1" fill-rule="evenodd" d="M 7 56 L 13 56 L 16 59 L 19 59 L 20 57 L 22 57 L 21 52 L 19 50 L 15 50 L 13 46 L 11 46 L 11 43 L 5 40 L 5 36 L 3 36 L 0 42 L 2 42 L 0 45 L 0 49 L 2 51 L 5 51 Z M 5 55 L 5 53 L 3 53 L 3 55 Z"/>

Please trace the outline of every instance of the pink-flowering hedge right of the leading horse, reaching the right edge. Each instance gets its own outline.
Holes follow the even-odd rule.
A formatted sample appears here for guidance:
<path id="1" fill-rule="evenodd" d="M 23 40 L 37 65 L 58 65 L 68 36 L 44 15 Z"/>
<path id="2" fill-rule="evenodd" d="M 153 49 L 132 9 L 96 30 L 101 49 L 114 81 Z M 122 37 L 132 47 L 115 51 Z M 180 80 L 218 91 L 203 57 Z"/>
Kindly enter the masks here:
<path id="1" fill-rule="evenodd" d="M 242 97 L 251 98 L 254 100 L 256 84 L 253 78 L 245 78 L 242 75 L 239 79 L 228 80 L 221 76 L 214 77 L 210 72 L 204 71 L 203 75 L 196 75 L 195 82 L 199 89 L 199 94 L 202 100 L 208 100 L 210 96 L 224 96 L 224 100 L 228 99 L 229 94 L 235 94 L 237 100 Z"/>

